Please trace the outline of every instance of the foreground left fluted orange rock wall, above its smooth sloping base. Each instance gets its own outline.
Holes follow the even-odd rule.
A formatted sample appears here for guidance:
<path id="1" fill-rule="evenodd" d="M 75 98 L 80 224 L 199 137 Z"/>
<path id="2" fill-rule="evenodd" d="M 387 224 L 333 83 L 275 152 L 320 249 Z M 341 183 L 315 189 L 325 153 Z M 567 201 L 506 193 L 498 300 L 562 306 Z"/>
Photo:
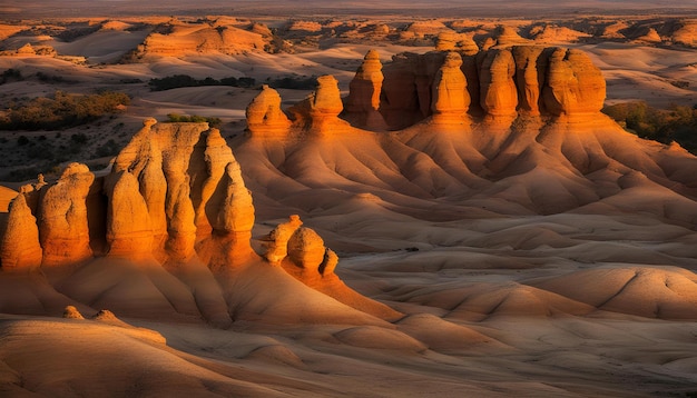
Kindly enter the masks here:
<path id="1" fill-rule="evenodd" d="M 230 148 L 206 123 L 146 119 L 111 173 L 96 179 L 87 166 L 71 163 L 57 181 L 22 192 L 2 236 L 3 269 L 75 265 L 97 255 L 187 261 L 212 233 L 246 237 L 242 248 L 252 251 L 252 195 Z"/>

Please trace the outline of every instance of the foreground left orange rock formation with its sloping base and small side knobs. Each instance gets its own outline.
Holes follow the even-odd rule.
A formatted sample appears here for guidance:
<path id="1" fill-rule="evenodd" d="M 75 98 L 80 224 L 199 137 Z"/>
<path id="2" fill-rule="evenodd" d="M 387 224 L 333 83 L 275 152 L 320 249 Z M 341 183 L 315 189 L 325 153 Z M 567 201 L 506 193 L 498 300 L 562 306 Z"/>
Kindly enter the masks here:
<path id="1" fill-rule="evenodd" d="M 317 96 L 308 109 L 336 118 L 337 103 Z M 249 113 L 267 121 L 276 115 L 263 109 L 253 105 Z M 55 307 L 42 309 L 41 297 L 58 296 L 82 311 L 98 305 L 125 316 L 204 318 L 219 327 L 306 300 L 316 310 L 283 319 L 399 317 L 346 287 L 333 272 L 337 256 L 311 229 L 295 228 L 300 220 L 279 226 L 275 249 L 259 257 L 251 245 L 254 213 L 240 166 L 217 129 L 146 119 L 109 173 L 71 163 L 58 180 L 22 187 L 11 201 L 0 219 L 0 285 L 13 280 L 22 297 L 37 298 L 18 306 L 0 296 L 0 310 L 50 314 Z M 292 298 L 239 288 L 265 278 Z"/>

